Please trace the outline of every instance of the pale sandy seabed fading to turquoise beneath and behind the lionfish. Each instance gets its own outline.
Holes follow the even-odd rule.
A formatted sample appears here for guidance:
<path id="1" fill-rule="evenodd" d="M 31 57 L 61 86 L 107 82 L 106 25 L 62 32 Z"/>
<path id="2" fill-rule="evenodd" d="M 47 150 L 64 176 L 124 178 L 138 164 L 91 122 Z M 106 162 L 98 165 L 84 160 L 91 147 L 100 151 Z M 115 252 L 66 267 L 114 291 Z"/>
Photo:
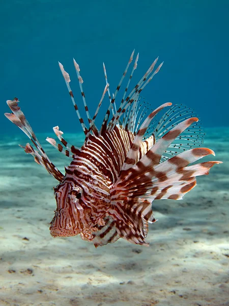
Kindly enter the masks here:
<path id="1" fill-rule="evenodd" d="M 2 136 L 0 306 L 229 306 L 229 129 L 207 132 L 216 157 L 202 161 L 224 163 L 183 200 L 153 202 L 150 247 L 119 239 L 97 249 L 50 236 L 57 182 L 18 147 L 26 138 Z M 70 162 L 44 148 L 61 170 Z"/>

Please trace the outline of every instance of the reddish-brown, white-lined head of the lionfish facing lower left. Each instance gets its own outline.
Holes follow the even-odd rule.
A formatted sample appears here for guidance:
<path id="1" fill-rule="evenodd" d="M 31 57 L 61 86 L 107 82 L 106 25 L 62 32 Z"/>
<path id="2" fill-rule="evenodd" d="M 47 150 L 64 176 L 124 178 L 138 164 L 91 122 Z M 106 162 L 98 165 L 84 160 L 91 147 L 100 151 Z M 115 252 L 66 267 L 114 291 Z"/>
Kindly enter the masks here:
<path id="1" fill-rule="evenodd" d="M 54 188 L 56 210 L 50 222 L 53 237 L 70 237 L 80 234 L 83 240 L 92 241 L 95 232 L 105 225 L 104 218 L 109 197 L 93 192 L 82 183 L 64 181 Z M 108 194 L 108 192 L 107 192 Z"/>

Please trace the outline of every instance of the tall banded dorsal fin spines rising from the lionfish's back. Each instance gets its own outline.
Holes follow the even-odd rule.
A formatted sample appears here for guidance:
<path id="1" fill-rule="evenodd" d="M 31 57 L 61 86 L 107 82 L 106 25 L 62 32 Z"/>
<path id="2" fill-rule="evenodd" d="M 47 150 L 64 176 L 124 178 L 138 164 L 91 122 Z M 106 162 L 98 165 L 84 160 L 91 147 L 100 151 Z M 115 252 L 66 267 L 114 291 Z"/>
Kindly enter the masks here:
<path id="1" fill-rule="evenodd" d="M 129 85 L 130 85 L 130 81 L 131 81 L 131 79 L 133 77 L 134 70 L 137 67 L 137 62 L 138 62 L 138 57 L 139 57 L 139 55 L 137 54 L 137 56 L 135 58 L 135 61 L 134 61 L 134 64 L 133 64 L 133 67 L 132 67 L 132 70 L 130 72 L 130 76 L 129 76 L 129 79 L 127 81 L 127 85 L 125 87 L 125 90 L 124 90 L 121 102 L 120 102 L 120 106 L 119 106 L 119 108 L 117 110 L 117 108 L 116 108 L 116 98 L 117 98 L 117 95 L 118 95 L 118 93 L 120 91 L 120 88 L 121 88 L 121 85 L 123 83 L 123 80 L 124 80 L 124 78 L 125 78 L 125 76 L 126 76 L 126 74 L 128 72 L 129 66 L 132 63 L 133 56 L 134 56 L 134 51 L 132 52 L 132 54 L 131 54 L 131 56 L 129 58 L 127 66 L 126 66 L 126 68 L 125 68 L 125 70 L 123 72 L 123 75 L 122 75 L 122 77 L 120 79 L 120 82 L 119 82 L 119 84 L 118 84 L 118 86 L 116 88 L 116 91 L 113 94 L 112 98 L 111 98 L 111 95 L 110 95 L 109 84 L 108 84 L 108 80 L 107 80 L 106 68 L 105 68 L 105 65 L 103 63 L 103 70 L 104 70 L 105 81 L 106 81 L 106 87 L 104 89 L 104 92 L 106 92 L 106 91 L 108 92 L 108 95 L 109 95 L 109 106 L 108 106 L 107 112 L 105 114 L 105 117 L 104 117 L 104 120 L 103 120 L 103 123 L 102 123 L 102 126 L 101 126 L 101 130 L 99 132 L 99 135 L 102 135 L 103 133 L 106 133 L 106 132 L 111 132 L 116 125 L 125 127 L 126 130 L 132 132 L 133 134 L 137 132 L 136 125 L 138 126 L 140 124 L 140 121 L 142 120 L 143 114 L 144 114 L 144 108 L 141 109 L 141 112 L 140 112 L 140 108 L 138 108 L 138 105 L 139 105 L 139 101 L 138 101 L 139 93 L 153 79 L 154 75 L 160 70 L 160 67 L 162 66 L 163 63 L 161 63 L 157 67 L 157 69 L 155 71 L 153 71 L 154 67 L 155 67 L 155 65 L 157 63 L 157 60 L 158 60 L 158 58 L 157 58 L 151 64 L 151 66 L 147 70 L 147 72 L 143 75 L 143 77 L 139 80 L 139 82 L 135 85 L 135 87 L 131 90 L 131 92 L 126 97 L 127 91 L 128 91 Z M 79 74 L 79 71 L 80 71 L 79 65 L 76 63 L 76 61 L 74 59 L 73 59 L 73 62 L 74 62 L 75 70 L 76 70 L 76 73 L 77 73 L 77 78 L 78 78 L 78 82 L 79 82 L 79 87 L 80 87 L 80 91 L 81 91 L 81 96 L 82 96 L 82 100 L 83 100 L 83 105 L 84 105 L 85 113 L 86 113 L 88 121 L 89 121 L 89 128 L 84 124 L 83 118 L 81 117 L 81 115 L 79 113 L 78 106 L 77 106 L 77 104 L 75 102 L 74 95 L 73 95 L 72 89 L 71 89 L 70 84 L 69 84 L 70 81 L 71 81 L 70 77 L 69 77 L 69 74 L 65 71 L 65 69 L 64 69 L 64 67 L 63 67 L 63 65 L 61 63 L 59 63 L 59 66 L 61 68 L 63 77 L 65 79 L 65 82 L 66 82 L 69 94 L 71 96 L 72 103 L 74 105 L 74 108 L 75 108 L 76 114 L 78 116 L 79 122 L 80 122 L 80 124 L 82 126 L 84 134 L 86 135 L 85 141 L 87 142 L 87 139 L 90 136 L 91 132 L 94 133 L 95 135 L 98 134 L 98 129 L 97 129 L 96 125 L 95 125 L 95 119 L 96 119 L 96 116 L 97 116 L 97 114 L 99 112 L 99 109 L 101 107 L 101 103 L 102 103 L 102 100 L 104 98 L 104 92 L 103 92 L 102 98 L 100 100 L 100 103 L 98 105 L 98 108 L 96 110 L 96 113 L 95 113 L 94 117 L 91 118 L 89 110 L 88 110 L 88 106 L 87 106 L 87 103 L 86 103 L 86 100 L 85 100 L 85 94 L 84 94 L 84 91 L 83 91 L 83 88 L 82 88 L 83 80 L 82 80 L 82 78 L 81 78 L 81 76 Z M 129 107 L 130 107 L 130 109 L 129 109 Z M 109 116 L 110 116 L 110 112 L 112 112 L 112 118 L 111 118 L 110 121 L 108 121 L 109 120 Z M 141 114 L 139 117 L 138 117 L 138 113 Z M 123 120 L 121 120 L 120 117 L 123 114 L 124 114 L 124 117 L 123 117 Z"/>

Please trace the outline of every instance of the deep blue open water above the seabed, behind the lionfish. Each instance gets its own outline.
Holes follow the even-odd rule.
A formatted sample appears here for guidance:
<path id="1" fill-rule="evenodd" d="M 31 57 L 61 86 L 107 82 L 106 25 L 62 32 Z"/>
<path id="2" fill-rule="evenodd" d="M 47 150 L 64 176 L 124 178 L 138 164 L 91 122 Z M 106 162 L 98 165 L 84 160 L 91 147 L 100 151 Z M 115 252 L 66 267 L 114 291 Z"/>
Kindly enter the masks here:
<path id="1" fill-rule="evenodd" d="M 93 115 L 105 86 L 102 62 L 112 92 L 134 48 L 132 86 L 157 56 L 164 61 L 142 92 L 155 108 L 185 103 L 205 126 L 229 125 L 228 20 L 227 0 L 1 1 L 0 131 L 19 132 L 3 116 L 15 96 L 35 131 L 81 131 L 58 61 L 82 106 L 72 58 L 79 63 Z M 99 121 L 107 106 L 108 97 Z"/>

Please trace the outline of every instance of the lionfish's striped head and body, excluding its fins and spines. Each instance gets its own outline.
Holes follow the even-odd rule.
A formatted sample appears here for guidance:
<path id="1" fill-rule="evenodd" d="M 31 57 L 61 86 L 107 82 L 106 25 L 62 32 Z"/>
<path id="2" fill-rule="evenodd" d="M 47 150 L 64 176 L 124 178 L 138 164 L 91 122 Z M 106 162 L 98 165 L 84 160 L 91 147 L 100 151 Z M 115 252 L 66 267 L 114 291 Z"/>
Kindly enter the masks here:
<path id="1" fill-rule="evenodd" d="M 52 236 L 95 238 L 98 228 L 105 225 L 104 218 L 109 217 L 110 190 L 133 140 L 131 132 L 117 126 L 104 136 L 90 135 L 65 168 L 64 181 L 54 188 L 57 209 L 50 226 Z M 153 144 L 154 137 L 141 142 L 136 162 Z"/>

